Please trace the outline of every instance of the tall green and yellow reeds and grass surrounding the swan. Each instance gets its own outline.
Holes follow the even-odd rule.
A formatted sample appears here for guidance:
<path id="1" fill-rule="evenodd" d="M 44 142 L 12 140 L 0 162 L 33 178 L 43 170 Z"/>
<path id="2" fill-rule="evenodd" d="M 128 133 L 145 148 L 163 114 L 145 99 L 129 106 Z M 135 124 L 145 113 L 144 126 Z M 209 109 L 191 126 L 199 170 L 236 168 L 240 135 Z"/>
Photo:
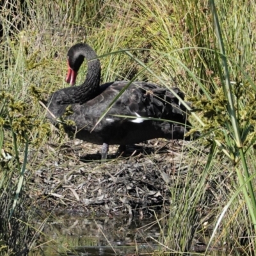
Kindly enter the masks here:
<path id="1" fill-rule="evenodd" d="M 29 212 L 24 196 L 29 180 L 26 164 L 36 161 L 37 150 L 47 142 L 67 140 L 64 134 L 52 132 L 38 99 L 47 99 L 66 86 L 67 49 L 86 41 L 101 55 L 102 83 L 138 75 L 138 80 L 168 88 L 175 84 L 195 107 L 191 121 L 204 136 L 196 141 L 196 152 L 183 153 L 192 159 L 185 185 L 180 188 L 177 179 L 176 186 L 170 187 L 173 198 L 167 216 L 169 236 L 161 237 L 164 248 L 186 252 L 194 237 L 209 236 L 205 230 L 213 225 L 211 246 L 228 244 L 230 250 L 253 253 L 253 1 L 218 0 L 214 6 L 213 0 L 209 4 L 198 0 L 6 0 L 0 8 L 1 228 L 11 227 L 7 223 L 13 218 L 29 227 L 24 214 Z M 83 74 L 79 72 L 78 83 Z M 29 150 L 34 152 L 31 156 Z M 46 153 L 46 157 L 53 156 Z M 0 252 L 20 252 L 22 241 L 15 241 L 20 247 L 12 248 L 5 232 L 0 230 Z"/>

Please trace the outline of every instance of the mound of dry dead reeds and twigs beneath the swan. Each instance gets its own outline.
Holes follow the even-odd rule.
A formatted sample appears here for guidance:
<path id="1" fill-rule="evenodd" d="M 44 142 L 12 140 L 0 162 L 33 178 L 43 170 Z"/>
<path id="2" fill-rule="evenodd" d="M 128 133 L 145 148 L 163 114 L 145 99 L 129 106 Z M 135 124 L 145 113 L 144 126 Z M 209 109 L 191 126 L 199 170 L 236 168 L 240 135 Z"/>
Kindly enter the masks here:
<path id="1" fill-rule="evenodd" d="M 188 170 L 196 166 L 193 147 L 196 142 L 151 140 L 118 157 L 112 146 L 111 159 L 101 164 L 100 146 L 77 140 L 47 145 L 36 157 L 30 152 L 29 196 L 36 207 L 83 215 L 168 211 L 170 187 L 184 188 Z"/>

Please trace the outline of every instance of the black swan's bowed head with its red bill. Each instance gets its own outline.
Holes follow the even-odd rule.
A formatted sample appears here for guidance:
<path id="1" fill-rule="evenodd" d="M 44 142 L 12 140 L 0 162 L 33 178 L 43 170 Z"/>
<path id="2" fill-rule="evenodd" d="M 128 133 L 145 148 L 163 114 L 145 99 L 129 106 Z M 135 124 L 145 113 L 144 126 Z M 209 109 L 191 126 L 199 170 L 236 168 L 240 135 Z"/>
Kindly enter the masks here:
<path id="1" fill-rule="evenodd" d="M 68 74 L 66 82 L 70 85 L 76 84 L 76 77 L 79 68 L 81 67 L 84 56 L 83 56 L 83 44 L 73 45 L 67 54 L 68 58 Z"/>

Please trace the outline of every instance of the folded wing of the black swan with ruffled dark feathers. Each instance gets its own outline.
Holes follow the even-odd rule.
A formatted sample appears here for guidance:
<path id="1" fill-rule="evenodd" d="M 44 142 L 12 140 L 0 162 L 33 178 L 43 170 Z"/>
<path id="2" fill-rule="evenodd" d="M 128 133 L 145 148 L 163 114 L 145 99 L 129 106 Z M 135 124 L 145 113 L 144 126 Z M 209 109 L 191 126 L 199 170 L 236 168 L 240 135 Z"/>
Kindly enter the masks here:
<path id="1" fill-rule="evenodd" d="M 98 120 L 127 83 L 129 82 L 118 81 L 103 84 L 101 86 L 102 92 L 97 97 L 84 102 L 84 104 L 72 105 L 74 115 L 82 123 L 86 122 L 86 120 L 92 121 L 92 118 L 93 120 Z M 175 90 L 181 99 L 184 99 L 184 93 L 180 92 L 178 88 L 172 89 Z M 136 82 L 132 83 L 116 100 L 104 119 L 108 119 L 108 122 L 124 120 L 124 118 L 120 118 L 118 115 L 134 116 L 135 120 L 133 122 L 143 122 L 145 120 L 143 118 L 148 117 L 168 120 L 179 119 L 180 122 L 183 122 L 185 111 L 181 108 L 179 99 L 168 89 L 160 88 L 156 84 Z M 130 121 L 131 118 L 127 120 Z"/>

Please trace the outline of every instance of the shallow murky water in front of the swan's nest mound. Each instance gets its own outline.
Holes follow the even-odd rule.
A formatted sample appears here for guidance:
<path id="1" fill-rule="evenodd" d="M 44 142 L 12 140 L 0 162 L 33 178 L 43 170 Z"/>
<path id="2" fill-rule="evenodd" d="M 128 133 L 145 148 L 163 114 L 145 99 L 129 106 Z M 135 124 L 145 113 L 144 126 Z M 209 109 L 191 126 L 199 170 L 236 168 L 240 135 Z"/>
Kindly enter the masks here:
<path id="1" fill-rule="evenodd" d="M 38 227 L 40 227 L 38 221 Z M 161 223 L 163 225 L 163 223 Z M 49 220 L 37 255 L 133 255 L 157 250 L 161 228 L 154 220 L 63 218 Z"/>

